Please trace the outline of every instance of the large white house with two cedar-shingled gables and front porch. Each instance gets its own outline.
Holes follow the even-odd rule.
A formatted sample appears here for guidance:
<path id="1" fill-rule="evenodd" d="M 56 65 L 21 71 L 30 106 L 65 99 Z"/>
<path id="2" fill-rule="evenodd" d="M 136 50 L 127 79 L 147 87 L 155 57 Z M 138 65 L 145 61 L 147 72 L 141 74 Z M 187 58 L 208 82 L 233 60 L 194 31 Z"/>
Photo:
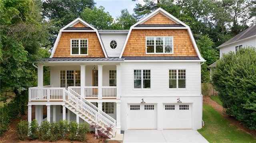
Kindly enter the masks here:
<path id="1" fill-rule="evenodd" d="M 111 135 L 127 129 L 200 129 L 201 64 L 188 25 L 158 8 L 130 30 L 97 30 L 77 18 L 38 62 L 28 121 L 86 121 Z M 43 67 L 50 85 L 43 86 Z"/>

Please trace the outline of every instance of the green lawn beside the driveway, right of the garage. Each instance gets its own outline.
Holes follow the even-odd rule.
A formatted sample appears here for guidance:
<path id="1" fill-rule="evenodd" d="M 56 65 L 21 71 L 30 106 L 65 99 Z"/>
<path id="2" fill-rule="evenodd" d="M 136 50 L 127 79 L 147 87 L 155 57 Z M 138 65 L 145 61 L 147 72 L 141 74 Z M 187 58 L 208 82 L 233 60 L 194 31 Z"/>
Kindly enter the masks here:
<path id="1" fill-rule="evenodd" d="M 210 143 L 256 143 L 256 138 L 230 124 L 210 105 L 203 106 L 203 120 L 198 132 Z"/>

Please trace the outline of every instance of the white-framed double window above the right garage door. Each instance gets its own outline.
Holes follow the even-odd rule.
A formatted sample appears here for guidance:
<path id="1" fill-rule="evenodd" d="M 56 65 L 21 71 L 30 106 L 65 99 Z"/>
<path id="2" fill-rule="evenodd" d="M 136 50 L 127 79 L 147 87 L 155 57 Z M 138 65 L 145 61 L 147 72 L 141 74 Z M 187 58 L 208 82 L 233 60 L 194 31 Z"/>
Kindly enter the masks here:
<path id="1" fill-rule="evenodd" d="M 169 70 L 169 88 L 186 88 L 186 70 Z"/>

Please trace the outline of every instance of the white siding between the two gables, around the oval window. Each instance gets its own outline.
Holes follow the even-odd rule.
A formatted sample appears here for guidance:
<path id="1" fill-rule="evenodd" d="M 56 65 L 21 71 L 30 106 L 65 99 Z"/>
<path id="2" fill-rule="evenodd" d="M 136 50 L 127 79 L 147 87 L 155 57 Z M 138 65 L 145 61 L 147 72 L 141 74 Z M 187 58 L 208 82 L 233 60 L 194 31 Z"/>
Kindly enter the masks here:
<path id="1" fill-rule="evenodd" d="M 119 57 L 124 41 L 127 37 L 127 33 L 100 33 L 100 37 L 108 57 Z M 110 41 L 112 40 L 117 42 L 116 49 L 110 48 Z"/>

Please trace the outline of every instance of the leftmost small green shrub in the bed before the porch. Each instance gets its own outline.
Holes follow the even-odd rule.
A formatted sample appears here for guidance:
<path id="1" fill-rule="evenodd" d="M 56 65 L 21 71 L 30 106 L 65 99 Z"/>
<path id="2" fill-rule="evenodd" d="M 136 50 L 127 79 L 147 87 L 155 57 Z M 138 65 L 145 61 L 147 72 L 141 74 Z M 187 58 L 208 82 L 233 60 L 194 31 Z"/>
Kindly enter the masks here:
<path id="1" fill-rule="evenodd" d="M 17 134 L 20 140 L 26 139 L 28 136 L 28 121 L 21 120 L 20 123 L 17 124 Z"/>

